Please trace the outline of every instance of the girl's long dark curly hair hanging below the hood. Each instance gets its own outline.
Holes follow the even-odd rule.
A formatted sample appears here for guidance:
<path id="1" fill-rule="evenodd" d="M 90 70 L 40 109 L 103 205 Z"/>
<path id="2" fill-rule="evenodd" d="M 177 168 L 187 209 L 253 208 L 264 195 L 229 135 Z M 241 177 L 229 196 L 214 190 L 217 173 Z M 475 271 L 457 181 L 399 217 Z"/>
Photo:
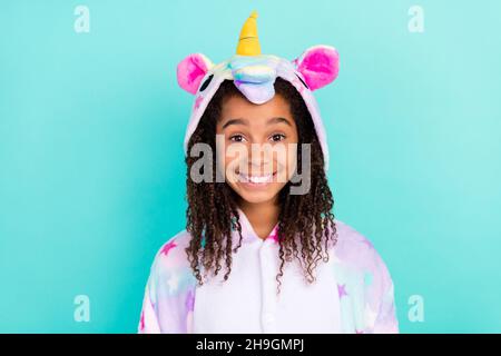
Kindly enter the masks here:
<path id="1" fill-rule="evenodd" d="M 298 91 L 286 80 L 277 78 L 275 92 L 288 103 L 298 134 L 297 171 L 302 164 L 302 145 L 311 144 L 311 188 L 304 195 L 291 195 L 293 185 L 288 181 L 278 192 L 278 245 L 279 273 L 276 276 L 277 293 L 284 275 L 285 263 L 296 258 L 307 283 L 315 280 L 314 269 L 318 261 L 328 260 L 328 241 L 336 240 L 336 226 L 332 212 L 334 200 L 324 171 L 324 156 L 316 136 L 310 111 Z M 242 96 L 232 80 L 222 82 L 207 106 L 199 125 L 188 142 L 188 152 L 197 142 L 208 144 L 216 152 L 216 125 L 220 119 L 225 99 Z M 214 154 L 215 155 L 215 154 Z M 187 227 L 191 239 L 186 248 L 188 259 L 199 285 L 203 285 L 202 269 L 217 275 L 222 264 L 226 265 L 224 280 L 232 271 L 232 257 L 242 246 L 242 226 L 238 221 L 237 195 L 226 182 L 216 181 L 215 157 L 213 157 L 213 179 L 210 182 L 194 182 L 191 166 L 196 157 L 187 155 Z M 232 231 L 239 235 L 237 246 L 233 246 Z M 301 247 L 299 247 L 301 246 Z M 301 258 L 299 258 L 301 253 Z"/>

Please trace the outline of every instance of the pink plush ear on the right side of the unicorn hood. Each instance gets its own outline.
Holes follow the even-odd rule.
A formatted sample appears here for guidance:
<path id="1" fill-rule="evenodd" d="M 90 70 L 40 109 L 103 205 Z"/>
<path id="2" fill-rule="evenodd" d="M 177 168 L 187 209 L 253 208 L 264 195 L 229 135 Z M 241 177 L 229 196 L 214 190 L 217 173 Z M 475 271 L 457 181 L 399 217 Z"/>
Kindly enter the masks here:
<path id="1" fill-rule="evenodd" d="M 296 65 L 310 90 L 313 91 L 336 79 L 340 70 L 340 56 L 334 47 L 315 46 L 305 50 L 293 63 Z"/>

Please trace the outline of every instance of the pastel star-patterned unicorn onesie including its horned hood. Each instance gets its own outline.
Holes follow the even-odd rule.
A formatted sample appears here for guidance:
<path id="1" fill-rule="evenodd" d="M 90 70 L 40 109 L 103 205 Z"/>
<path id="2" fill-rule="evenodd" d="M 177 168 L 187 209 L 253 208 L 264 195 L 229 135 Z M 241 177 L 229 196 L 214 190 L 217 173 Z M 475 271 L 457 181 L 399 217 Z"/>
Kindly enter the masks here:
<path id="1" fill-rule="evenodd" d="M 287 60 L 262 55 L 257 14 L 242 28 L 236 55 L 214 65 L 206 56 L 186 57 L 177 67 L 179 86 L 195 96 L 184 140 L 189 138 L 204 110 L 224 80 L 233 80 L 253 103 L 274 95 L 281 77 L 304 99 L 328 169 L 325 129 L 313 91 L 337 77 L 338 53 L 330 46 L 315 46 Z M 374 246 L 354 228 L 335 219 L 336 244 L 328 261 L 318 264 L 316 279 L 307 284 L 298 264 L 279 270 L 277 226 L 269 236 L 257 236 L 238 209 L 242 247 L 234 254 L 226 281 L 218 276 L 200 286 L 185 248 L 190 234 L 185 229 L 157 251 L 146 284 L 138 333 L 397 333 L 393 281 Z M 232 233 L 235 244 L 237 231 Z"/>

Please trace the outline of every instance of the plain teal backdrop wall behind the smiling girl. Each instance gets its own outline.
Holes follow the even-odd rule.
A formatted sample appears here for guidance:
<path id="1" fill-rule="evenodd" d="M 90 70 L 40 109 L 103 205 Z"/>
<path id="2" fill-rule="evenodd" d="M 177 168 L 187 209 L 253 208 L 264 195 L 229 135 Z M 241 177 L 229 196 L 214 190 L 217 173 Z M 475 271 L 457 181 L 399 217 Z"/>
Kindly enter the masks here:
<path id="1" fill-rule="evenodd" d="M 73 31 L 78 4 L 89 33 Z M 0 7 L 0 332 L 136 332 L 154 254 L 185 224 L 193 98 L 176 66 L 233 55 L 253 9 L 263 52 L 340 51 L 317 91 L 334 212 L 386 261 L 401 330 L 501 332 L 499 1 Z M 81 294 L 89 323 L 73 320 Z"/>

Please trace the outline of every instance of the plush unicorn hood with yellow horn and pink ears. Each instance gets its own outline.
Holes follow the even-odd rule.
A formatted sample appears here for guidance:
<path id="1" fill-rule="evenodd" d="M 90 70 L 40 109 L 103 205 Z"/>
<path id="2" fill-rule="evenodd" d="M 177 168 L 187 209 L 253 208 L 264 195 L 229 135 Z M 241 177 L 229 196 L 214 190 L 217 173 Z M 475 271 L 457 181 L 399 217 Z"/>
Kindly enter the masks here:
<path id="1" fill-rule="evenodd" d="M 273 55 L 262 55 L 257 37 L 257 13 L 245 21 L 236 55 L 215 65 L 202 53 L 193 53 L 177 66 L 179 86 L 195 96 L 191 116 L 184 139 L 185 155 L 198 122 L 224 80 L 233 80 L 238 90 L 253 103 L 261 105 L 275 95 L 275 79 L 291 82 L 301 93 L 312 116 L 315 131 L 324 155 L 324 169 L 328 169 L 328 148 L 325 128 L 313 91 L 336 79 L 338 55 L 334 47 L 314 46 L 294 60 Z"/>

